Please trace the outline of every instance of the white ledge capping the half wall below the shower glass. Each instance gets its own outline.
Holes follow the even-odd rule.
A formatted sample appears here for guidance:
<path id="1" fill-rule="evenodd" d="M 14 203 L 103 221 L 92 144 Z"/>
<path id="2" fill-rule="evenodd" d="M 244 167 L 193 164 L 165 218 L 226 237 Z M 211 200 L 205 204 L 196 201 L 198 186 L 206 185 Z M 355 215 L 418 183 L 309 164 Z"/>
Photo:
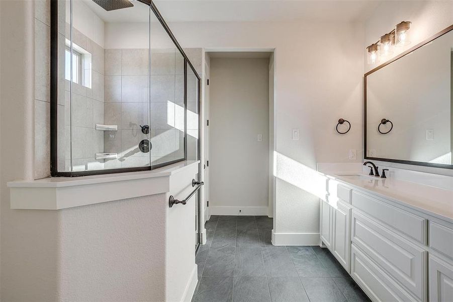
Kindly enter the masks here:
<path id="1" fill-rule="evenodd" d="M 152 171 L 82 177 L 11 181 L 12 209 L 60 210 L 71 207 L 167 194 L 170 179 L 180 172 L 198 173 L 200 161 L 186 161 Z M 192 178 L 187 179 L 187 186 Z"/>

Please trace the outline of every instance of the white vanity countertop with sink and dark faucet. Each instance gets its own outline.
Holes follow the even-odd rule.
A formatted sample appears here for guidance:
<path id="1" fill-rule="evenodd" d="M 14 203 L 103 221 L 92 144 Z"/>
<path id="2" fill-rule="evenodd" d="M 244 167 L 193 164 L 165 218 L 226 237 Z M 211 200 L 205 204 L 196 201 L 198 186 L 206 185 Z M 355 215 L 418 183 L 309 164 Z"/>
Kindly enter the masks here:
<path id="1" fill-rule="evenodd" d="M 453 191 L 399 179 L 377 178 L 357 171 L 319 171 L 321 174 L 393 202 L 441 219 L 453 219 Z M 360 177 L 354 177 L 360 175 Z"/>

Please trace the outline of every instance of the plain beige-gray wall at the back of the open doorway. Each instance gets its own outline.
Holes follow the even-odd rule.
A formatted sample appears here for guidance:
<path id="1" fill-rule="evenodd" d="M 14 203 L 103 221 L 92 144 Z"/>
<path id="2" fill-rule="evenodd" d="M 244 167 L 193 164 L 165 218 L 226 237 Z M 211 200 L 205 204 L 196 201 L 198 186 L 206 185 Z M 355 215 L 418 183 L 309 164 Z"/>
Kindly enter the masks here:
<path id="1" fill-rule="evenodd" d="M 211 58 L 211 214 L 267 214 L 268 66 L 268 58 Z"/>

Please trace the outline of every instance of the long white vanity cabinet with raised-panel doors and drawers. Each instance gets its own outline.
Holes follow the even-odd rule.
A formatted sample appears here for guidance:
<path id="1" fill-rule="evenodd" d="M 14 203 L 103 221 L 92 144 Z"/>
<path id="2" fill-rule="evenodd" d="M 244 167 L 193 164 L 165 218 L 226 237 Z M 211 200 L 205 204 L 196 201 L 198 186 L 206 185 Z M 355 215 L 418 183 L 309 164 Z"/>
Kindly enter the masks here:
<path id="1" fill-rule="evenodd" d="M 453 223 L 330 179 L 322 243 L 373 301 L 453 301 Z"/>

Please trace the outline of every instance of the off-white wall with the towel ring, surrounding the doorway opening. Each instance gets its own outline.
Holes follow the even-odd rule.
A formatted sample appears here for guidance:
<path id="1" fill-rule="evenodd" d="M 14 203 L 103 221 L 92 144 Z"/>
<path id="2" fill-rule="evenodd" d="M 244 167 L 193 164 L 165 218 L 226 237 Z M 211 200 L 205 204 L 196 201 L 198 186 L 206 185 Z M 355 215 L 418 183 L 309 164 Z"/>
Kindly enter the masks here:
<path id="1" fill-rule="evenodd" d="M 363 27 L 354 23 L 260 22 L 170 23 L 169 27 L 183 47 L 276 49 L 274 231 L 313 238 L 311 234 L 319 232 L 320 185 L 313 183 L 316 163 L 349 162 L 349 149 L 356 149 L 356 161 L 361 160 Z M 114 43 L 113 32 L 122 40 L 123 35 L 132 39 L 133 33 L 141 31 L 138 24 L 115 29 L 106 27 L 107 44 Z M 153 40 L 165 42 L 166 37 L 154 35 Z M 339 118 L 352 123 L 347 135 L 335 131 Z M 292 129 L 300 129 L 300 140 L 291 139 Z M 299 179 L 300 175 L 304 178 Z"/>

